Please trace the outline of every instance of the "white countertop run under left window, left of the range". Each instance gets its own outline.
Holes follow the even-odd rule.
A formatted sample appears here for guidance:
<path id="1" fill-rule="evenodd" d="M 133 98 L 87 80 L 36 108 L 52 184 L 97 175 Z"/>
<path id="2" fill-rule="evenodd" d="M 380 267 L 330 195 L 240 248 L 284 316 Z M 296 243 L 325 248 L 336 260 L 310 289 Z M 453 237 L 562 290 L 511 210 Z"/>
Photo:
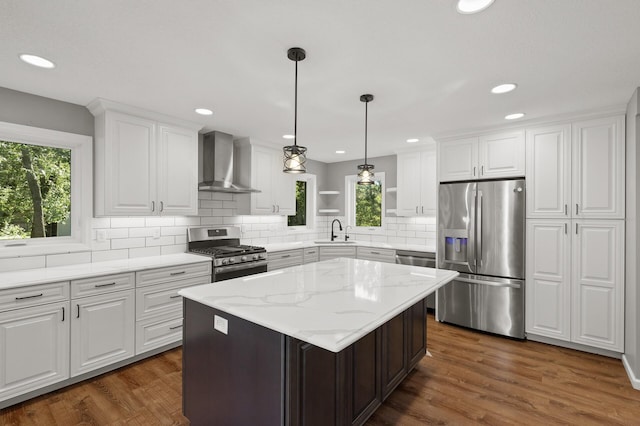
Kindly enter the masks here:
<path id="1" fill-rule="evenodd" d="M 0 273 L 0 290 L 200 262 L 211 262 L 211 258 L 196 254 L 178 253 L 163 256 L 139 257 L 135 259 L 111 260 L 108 262 L 81 263 L 52 268 L 2 272 Z"/>

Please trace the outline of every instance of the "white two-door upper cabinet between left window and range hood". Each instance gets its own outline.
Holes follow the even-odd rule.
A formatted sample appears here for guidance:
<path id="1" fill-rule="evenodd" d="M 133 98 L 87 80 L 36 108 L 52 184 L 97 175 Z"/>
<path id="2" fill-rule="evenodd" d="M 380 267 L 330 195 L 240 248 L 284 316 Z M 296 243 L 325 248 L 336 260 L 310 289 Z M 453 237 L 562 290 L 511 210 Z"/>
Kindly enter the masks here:
<path id="1" fill-rule="evenodd" d="M 197 215 L 199 125 L 97 99 L 94 214 Z"/>

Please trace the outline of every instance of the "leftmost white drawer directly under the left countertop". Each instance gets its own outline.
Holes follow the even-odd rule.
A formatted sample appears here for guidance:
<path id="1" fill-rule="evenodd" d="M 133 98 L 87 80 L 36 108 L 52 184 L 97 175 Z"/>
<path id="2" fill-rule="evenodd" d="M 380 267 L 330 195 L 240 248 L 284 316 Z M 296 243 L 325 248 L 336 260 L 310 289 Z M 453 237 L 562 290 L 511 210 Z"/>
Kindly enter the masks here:
<path id="1" fill-rule="evenodd" d="M 0 312 L 69 300 L 69 281 L 0 291 Z"/>

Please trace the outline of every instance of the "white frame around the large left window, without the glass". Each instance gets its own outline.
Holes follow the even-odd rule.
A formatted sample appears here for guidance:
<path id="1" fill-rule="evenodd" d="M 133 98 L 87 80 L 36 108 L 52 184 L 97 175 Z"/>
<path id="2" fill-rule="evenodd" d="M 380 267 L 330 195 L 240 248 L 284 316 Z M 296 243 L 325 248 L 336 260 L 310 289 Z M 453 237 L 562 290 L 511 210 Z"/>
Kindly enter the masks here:
<path id="1" fill-rule="evenodd" d="M 91 250 L 93 138 L 0 121 L 0 139 L 27 145 L 71 149 L 71 236 L 0 240 L 0 258 Z"/>

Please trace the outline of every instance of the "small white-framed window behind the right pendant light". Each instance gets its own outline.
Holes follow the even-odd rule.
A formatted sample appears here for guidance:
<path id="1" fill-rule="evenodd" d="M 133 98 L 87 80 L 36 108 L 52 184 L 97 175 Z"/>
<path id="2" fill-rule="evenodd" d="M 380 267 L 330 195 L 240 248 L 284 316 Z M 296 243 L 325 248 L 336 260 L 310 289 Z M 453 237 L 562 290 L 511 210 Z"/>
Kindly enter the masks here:
<path id="1" fill-rule="evenodd" d="M 374 185 L 358 185 L 358 176 L 346 176 L 347 224 L 359 232 L 378 232 L 384 228 L 384 173 L 375 175 Z"/>

